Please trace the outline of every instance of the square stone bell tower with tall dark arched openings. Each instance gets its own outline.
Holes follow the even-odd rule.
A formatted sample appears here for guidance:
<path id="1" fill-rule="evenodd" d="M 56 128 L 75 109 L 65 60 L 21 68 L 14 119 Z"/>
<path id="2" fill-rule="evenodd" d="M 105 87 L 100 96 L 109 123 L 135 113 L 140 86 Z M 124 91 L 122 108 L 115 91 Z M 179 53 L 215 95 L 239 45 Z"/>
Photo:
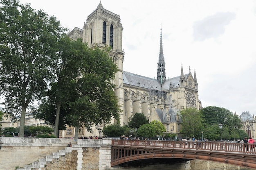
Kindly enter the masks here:
<path id="1" fill-rule="evenodd" d="M 123 88 L 123 61 L 124 51 L 122 50 L 123 26 L 118 14 L 112 13 L 103 8 L 101 2 L 86 20 L 83 26 L 83 42 L 88 43 L 90 48 L 105 48 L 110 46 L 109 56 L 118 67 L 115 74 L 115 95 L 119 97 L 121 106 L 120 123 L 124 121 L 124 88 Z"/>

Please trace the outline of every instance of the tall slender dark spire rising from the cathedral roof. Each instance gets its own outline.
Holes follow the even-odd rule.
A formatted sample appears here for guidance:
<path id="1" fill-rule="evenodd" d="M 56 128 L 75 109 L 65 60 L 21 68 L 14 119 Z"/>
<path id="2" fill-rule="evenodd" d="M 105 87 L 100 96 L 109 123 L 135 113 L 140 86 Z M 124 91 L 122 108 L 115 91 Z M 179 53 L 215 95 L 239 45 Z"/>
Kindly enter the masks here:
<path id="1" fill-rule="evenodd" d="M 163 42 L 162 42 L 162 24 L 161 24 L 161 34 L 160 34 L 160 52 L 159 52 L 158 63 L 157 63 L 157 80 L 161 81 L 161 85 L 163 84 L 163 81 L 166 80 Z"/>

